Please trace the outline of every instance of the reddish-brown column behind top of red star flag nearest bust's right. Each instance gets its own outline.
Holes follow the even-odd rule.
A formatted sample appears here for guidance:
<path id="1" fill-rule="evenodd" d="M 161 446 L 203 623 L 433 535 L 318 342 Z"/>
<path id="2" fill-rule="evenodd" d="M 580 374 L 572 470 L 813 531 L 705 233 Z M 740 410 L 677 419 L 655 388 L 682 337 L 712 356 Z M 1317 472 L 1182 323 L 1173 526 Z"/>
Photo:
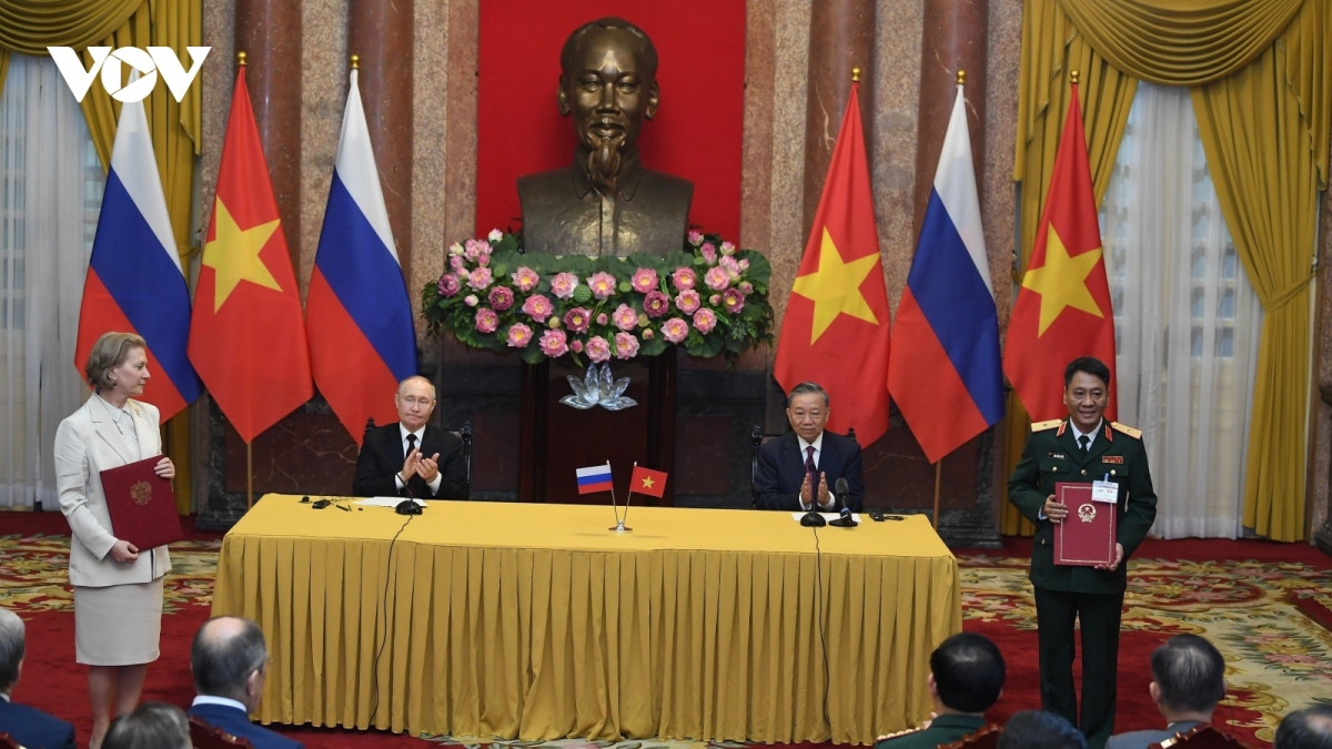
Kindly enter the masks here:
<path id="1" fill-rule="evenodd" d="M 851 93 L 851 68 L 860 68 L 860 117 L 874 115 L 874 0 L 819 0 L 810 15 L 809 89 L 805 109 L 805 221 L 810 236 L 814 212 L 827 179 L 842 113 Z M 874 161 L 868 121 L 866 151 Z"/>

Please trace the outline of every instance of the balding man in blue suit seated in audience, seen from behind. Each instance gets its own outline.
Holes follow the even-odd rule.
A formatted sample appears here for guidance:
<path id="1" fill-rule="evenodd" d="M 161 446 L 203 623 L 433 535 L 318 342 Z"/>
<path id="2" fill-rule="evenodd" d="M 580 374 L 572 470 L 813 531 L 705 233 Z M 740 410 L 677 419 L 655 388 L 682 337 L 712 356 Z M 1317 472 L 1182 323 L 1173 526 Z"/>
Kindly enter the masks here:
<path id="1" fill-rule="evenodd" d="M 258 625 L 221 616 L 204 622 L 189 648 L 194 704 L 189 714 L 213 728 L 249 740 L 256 749 L 302 749 L 301 742 L 249 720 L 264 696 L 268 646 Z"/>

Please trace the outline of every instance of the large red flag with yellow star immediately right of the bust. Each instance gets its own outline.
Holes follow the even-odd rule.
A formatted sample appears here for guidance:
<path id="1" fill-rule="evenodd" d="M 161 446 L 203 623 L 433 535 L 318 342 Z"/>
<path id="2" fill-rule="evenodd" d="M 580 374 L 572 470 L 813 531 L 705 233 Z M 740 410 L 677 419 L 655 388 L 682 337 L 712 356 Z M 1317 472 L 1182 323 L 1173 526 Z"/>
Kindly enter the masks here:
<path id="1" fill-rule="evenodd" d="M 874 225 L 860 85 L 832 148 L 810 240 L 786 305 L 773 376 L 782 389 L 813 381 L 829 392 L 829 429 L 855 428 L 860 445 L 888 430 L 888 293 Z"/>

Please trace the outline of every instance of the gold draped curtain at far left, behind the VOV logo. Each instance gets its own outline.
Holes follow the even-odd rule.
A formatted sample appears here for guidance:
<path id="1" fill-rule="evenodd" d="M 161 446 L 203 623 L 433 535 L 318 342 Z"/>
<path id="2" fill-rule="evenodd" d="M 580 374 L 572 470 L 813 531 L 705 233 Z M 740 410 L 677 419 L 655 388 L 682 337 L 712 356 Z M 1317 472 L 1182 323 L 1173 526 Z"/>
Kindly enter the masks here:
<path id="1" fill-rule="evenodd" d="M 190 59 L 185 48 L 202 44 L 202 13 L 200 0 L 0 0 L 0 91 L 11 51 L 47 55 L 48 45 L 83 49 L 85 67 L 92 64 L 88 47 L 170 47 L 188 69 Z M 83 112 L 101 165 L 109 168 L 120 103 L 95 84 L 83 100 Z M 168 88 L 159 84 L 144 99 L 144 112 L 166 195 L 176 251 L 181 265 L 188 268 L 194 157 L 200 153 L 198 85 L 189 87 L 177 103 Z M 172 418 L 165 429 L 166 454 L 176 462 L 178 478 L 176 501 L 181 512 L 188 513 L 189 412 Z"/>

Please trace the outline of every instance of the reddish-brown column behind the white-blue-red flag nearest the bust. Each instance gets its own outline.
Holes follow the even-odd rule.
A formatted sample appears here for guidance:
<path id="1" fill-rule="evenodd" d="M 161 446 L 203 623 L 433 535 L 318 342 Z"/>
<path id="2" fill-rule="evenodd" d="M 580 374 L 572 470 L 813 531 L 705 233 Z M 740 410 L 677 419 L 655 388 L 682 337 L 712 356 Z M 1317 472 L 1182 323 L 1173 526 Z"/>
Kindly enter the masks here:
<path id="1" fill-rule="evenodd" d="M 413 0 L 348 5 L 346 48 L 360 56 L 365 121 L 405 279 L 412 279 L 413 27 Z"/>

